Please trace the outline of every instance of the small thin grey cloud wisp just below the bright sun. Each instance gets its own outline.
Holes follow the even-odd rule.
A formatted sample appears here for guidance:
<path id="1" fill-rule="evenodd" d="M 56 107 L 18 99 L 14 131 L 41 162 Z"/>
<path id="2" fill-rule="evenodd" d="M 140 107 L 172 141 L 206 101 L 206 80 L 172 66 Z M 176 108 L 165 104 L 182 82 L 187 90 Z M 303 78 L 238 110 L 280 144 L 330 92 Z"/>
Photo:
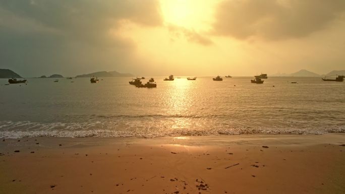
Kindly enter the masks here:
<path id="1" fill-rule="evenodd" d="M 190 42 L 195 42 L 204 46 L 213 44 L 212 40 L 199 34 L 193 29 L 187 29 L 181 26 L 170 24 L 168 25 L 168 30 L 174 37 L 177 37 L 177 38 L 180 38 L 183 35 Z"/>

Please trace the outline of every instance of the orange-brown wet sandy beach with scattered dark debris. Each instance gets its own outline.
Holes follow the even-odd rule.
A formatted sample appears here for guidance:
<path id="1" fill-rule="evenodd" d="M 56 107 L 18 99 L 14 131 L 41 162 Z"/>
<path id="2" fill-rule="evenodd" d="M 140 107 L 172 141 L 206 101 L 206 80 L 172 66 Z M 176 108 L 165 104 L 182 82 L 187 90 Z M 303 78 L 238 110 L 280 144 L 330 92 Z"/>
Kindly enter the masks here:
<path id="1" fill-rule="evenodd" d="M 345 134 L 0 141 L 0 193 L 345 193 Z"/>

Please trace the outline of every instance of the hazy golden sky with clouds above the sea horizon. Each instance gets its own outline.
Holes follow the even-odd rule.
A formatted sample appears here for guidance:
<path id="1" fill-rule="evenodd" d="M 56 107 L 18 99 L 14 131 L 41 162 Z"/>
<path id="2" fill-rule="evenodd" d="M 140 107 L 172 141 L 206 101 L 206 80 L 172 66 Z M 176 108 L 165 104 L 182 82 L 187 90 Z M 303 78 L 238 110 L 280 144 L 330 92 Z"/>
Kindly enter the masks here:
<path id="1" fill-rule="evenodd" d="M 0 0 L 0 69 L 326 74 L 345 70 L 345 1 Z"/>

